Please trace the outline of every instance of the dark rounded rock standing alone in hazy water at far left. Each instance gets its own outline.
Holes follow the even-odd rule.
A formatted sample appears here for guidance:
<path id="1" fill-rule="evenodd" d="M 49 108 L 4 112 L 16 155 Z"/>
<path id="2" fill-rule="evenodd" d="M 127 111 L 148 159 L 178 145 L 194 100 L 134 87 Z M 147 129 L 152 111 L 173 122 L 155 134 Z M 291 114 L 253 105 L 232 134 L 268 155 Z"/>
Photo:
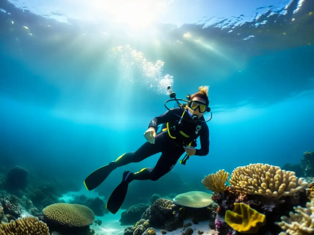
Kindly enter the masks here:
<path id="1" fill-rule="evenodd" d="M 8 192 L 25 189 L 27 186 L 27 175 L 27 170 L 20 166 L 11 168 L 4 179 L 4 188 Z"/>

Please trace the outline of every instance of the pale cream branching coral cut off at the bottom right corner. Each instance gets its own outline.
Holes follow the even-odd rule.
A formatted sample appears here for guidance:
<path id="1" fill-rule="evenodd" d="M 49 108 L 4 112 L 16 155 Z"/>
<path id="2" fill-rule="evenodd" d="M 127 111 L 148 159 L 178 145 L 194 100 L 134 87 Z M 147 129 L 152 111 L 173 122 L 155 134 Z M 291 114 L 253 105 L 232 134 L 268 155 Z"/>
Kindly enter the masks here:
<path id="1" fill-rule="evenodd" d="M 296 206 L 296 213 L 290 212 L 289 217 L 282 216 L 281 222 L 275 222 L 285 232 L 280 235 L 314 234 L 314 200 L 306 203 L 306 207 Z"/>

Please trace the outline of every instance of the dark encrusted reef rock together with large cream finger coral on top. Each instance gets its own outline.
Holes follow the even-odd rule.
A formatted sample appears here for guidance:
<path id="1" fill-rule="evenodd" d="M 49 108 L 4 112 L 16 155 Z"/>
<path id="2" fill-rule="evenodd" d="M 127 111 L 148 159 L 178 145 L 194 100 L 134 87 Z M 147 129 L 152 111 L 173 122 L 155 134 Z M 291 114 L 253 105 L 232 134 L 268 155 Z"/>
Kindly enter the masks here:
<path id="1" fill-rule="evenodd" d="M 228 215 L 225 220 L 226 211 L 229 210 L 228 214 L 235 210 L 236 203 L 244 203 L 267 218 L 256 234 L 277 235 L 282 230 L 275 222 L 288 215 L 295 206 L 305 206 L 311 198 L 311 188 L 306 190 L 309 186 L 306 181 L 278 166 L 250 164 L 238 167 L 232 172 L 229 182 L 230 186 L 226 186 L 224 192 L 212 196 L 218 204 L 209 222 L 209 226 L 215 229 L 213 234 L 234 234 L 236 231 L 232 228 L 234 226 L 230 227 Z M 240 218 L 237 223 L 241 223 L 242 229 L 249 224 Z"/>

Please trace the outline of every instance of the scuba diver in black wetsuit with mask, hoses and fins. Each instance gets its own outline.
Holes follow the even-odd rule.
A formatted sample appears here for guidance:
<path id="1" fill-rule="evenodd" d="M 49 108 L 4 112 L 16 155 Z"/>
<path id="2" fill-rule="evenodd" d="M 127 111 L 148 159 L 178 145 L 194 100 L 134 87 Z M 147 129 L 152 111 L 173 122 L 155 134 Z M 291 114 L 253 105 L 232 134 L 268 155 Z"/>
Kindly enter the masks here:
<path id="1" fill-rule="evenodd" d="M 185 165 L 186 160 L 193 155 L 205 156 L 209 152 L 209 130 L 207 123 L 211 117 L 210 107 L 208 107 L 208 86 L 200 86 L 199 91 L 192 96 L 187 95 L 187 100 L 176 99 L 175 92 L 170 94 L 169 101 L 176 101 L 179 107 L 168 109 L 164 114 L 153 118 L 144 133 L 147 140 L 135 152 L 122 154 L 115 161 L 110 162 L 95 171 L 93 171 L 85 180 L 84 185 L 87 190 L 93 190 L 98 187 L 108 175 L 120 166 L 129 163 L 136 163 L 144 159 L 161 153 L 157 164 L 153 168 L 144 168 L 136 173 L 124 171 L 121 183 L 112 192 L 108 199 L 106 208 L 112 214 L 115 214 L 126 197 L 127 188 L 133 180 L 158 180 L 164 176 L 176 165 L 176 162 L 182 154 L 186 152 L 184 159 L 180 161 Z M 172 91 L 168 86 L 168 91 Z M 182 105 L 178 101 L 187 102 Z M 203 115 L 211 113 L 211 117 L 205 121 Z M 160 133 L 157 132 L 158 126 L 163 124 Z M 196 139 L 200 137 L 201 148 L 196 149 Z"/>

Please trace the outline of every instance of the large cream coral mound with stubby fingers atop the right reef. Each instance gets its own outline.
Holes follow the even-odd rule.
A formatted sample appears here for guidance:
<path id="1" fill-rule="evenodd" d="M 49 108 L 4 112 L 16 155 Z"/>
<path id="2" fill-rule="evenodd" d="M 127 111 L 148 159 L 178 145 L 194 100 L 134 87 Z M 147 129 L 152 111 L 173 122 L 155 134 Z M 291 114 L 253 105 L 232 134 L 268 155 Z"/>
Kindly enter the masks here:
<path id="1" fill-rule="evenodd" d="M 298 179 L 293 171 L 262 163 L 234 169 L 229 182 L 232 187 L 247 194 L 277 198 L 292 195 L 309 185 L 301 178 Z"/>

